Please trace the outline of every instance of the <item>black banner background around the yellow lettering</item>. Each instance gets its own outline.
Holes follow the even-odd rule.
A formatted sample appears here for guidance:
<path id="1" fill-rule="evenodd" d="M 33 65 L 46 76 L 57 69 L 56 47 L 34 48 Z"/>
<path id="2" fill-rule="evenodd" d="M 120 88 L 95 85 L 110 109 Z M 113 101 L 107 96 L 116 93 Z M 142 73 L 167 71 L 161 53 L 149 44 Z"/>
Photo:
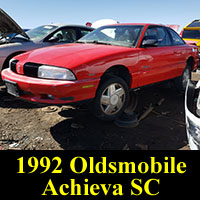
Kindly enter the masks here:
<path id="1" fill-rule="evenodd" d="M 24 157 L 24 171 L 27 173 L 19 174 L 20 157 Z M 50 170 L 44 174 L 38 167 L 34 173 L 28 167 L 27 160 L 35 156 L 38 160 L 44 156 L 50 160 L 58 156 L 62 159 L 61 174 L 52 174 L 51 171 L 56 167 L 56 162 L 52 162 Z M 108 162 L 147 162 L 150 157 L 155 157 L 156 161 L 163 162 L 164 157 L 175 157 L 176 163 L 185 162 L 187 170 L 184 174 L 90 174 L 88 170 L 82 174 L 76 174 L 70 169 L 70 161 L 74 157 L 83 157 L 87 161 L 89 157 L 94 157 L 95 163 L 102 161 L 101 157 L 107 158 Z M 200 152 L 199 151 L 0 151 L 0 198 L 1 199 L 198 199 L 200 181 Z M 88 163 L 89 165 L 89 163 Z M 78 167 L 78 166 L 77 166 Z M 78 168 L 77 168 L 78 169 Z M 131 196 L 131 181 L 134 178 L 142 179 L 142 183 L 150 178 L 160 179 L 160 185 L 152 184 L 151 191 L 159 190 L 156 196 L 149 196 L 143 193 L 139 196 Z M 75 179 L 78 184 L 122 184 L 123 196 L 113 196 L 112 190 L 105 196 L 100 192 L 97 196 L 41 196 L 47 186 L 49 179 L 52 180 L 56 191 L 59 191 L 61 184 L 69 184 L 70 179 Z"/>

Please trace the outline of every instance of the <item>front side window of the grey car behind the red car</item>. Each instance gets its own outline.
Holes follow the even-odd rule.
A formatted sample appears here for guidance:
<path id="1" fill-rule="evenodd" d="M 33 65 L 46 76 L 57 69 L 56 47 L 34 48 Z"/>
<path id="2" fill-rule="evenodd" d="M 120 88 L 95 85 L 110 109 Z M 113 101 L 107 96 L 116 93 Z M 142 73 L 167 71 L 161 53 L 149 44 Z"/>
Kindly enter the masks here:
<path id="1" fill-rule="evenodd" d="M 55 32 L 51 39 L 55 38 L 60 43 L 70 43 L 76 40 L 76 29 L 73 28 L 62 28 Z"/>

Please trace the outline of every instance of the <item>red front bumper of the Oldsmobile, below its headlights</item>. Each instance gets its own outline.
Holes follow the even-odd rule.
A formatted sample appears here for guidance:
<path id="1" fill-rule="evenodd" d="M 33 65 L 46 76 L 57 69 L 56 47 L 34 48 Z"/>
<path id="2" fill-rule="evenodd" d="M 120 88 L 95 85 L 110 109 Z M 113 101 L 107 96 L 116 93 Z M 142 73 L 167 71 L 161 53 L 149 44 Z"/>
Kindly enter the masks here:
<path id="1" fill-rule="evenodd" d="M 20 98 L 48 104 L 67 104 L 92 99 L 99 83 L 99 79 L 60 81 L 32 78 L 16 74 L 10 69 L 3 70 L 1 75 L 4 81 L 17 83 Z"/>

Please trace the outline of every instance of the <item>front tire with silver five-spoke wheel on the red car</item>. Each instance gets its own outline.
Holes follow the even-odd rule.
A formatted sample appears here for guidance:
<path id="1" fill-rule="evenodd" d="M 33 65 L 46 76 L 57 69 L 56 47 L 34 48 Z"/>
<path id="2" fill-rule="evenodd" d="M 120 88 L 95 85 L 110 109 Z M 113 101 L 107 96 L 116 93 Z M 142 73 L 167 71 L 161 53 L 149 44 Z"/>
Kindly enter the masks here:
<path id="1" fill-rule="evenodd" d="M 100 83 L 93 101 L 93 114 L 104 121 L 118 118 L 129 101 L 129 88 L 117 76 L 106 76 Z"/>

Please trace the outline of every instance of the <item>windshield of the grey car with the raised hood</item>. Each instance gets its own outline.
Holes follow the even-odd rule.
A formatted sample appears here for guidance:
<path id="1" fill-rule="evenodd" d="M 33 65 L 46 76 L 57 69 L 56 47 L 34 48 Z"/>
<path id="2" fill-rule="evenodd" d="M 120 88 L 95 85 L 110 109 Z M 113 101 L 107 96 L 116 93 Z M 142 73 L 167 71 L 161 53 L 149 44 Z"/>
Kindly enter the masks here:
<path id="1" fill-rule="evenodd" d="M 26 34 L 29 36 L 31 40 L 42 40 L 44 37 L 46 37 L 49 33 L 51 33 L 53 30 L 58 28 L 58 26 L 55 25 L 44 25 L 39 26 L 34 29 L 31 29 L 26 32 Z M 17 35 L 16 37 L 23 37 L 21 35 Z"/>

